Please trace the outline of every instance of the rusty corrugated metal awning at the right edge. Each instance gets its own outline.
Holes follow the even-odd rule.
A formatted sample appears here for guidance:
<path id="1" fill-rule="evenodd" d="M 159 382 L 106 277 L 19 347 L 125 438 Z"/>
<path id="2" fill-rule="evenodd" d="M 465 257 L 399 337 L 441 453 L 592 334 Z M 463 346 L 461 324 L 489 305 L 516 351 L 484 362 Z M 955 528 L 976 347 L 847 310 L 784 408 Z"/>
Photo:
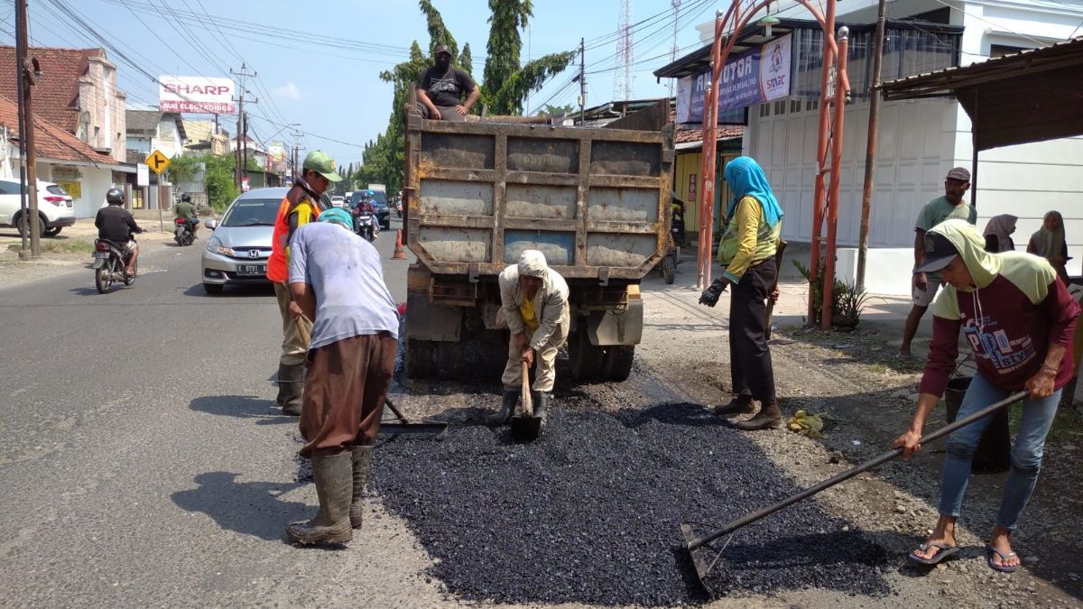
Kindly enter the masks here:
<path id="1" fill-rule="evenodd" d="M 886 100 L 954 96 L 978 151 L 1083 135 L 1083 37 L 886 82 Z"/>

